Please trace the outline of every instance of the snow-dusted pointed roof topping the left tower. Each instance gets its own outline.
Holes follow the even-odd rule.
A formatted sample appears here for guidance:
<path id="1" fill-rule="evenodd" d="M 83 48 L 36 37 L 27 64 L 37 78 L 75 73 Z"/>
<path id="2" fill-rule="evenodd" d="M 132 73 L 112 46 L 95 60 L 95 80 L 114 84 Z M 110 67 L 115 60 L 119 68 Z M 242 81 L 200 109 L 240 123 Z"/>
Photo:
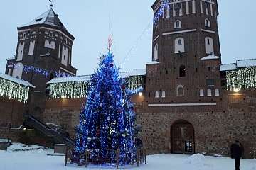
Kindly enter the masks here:
<path id="1" fill-rule="evenodd" d="M 58 18 L 58 15 L 53 11 L 52 8 L 50 8 L 45 13 L 41 14 L 41 16 L 38 16 L 36 19 L 31 21 L 30 23 L 27 23 L 21 27 L 33 26 L 33 25 L 43 24 L 43 23 L 50 26 L 58 26 L 65 29 L 65 26 L 63 26 L 63 23 L 61 23 L 60 19 Z"/>

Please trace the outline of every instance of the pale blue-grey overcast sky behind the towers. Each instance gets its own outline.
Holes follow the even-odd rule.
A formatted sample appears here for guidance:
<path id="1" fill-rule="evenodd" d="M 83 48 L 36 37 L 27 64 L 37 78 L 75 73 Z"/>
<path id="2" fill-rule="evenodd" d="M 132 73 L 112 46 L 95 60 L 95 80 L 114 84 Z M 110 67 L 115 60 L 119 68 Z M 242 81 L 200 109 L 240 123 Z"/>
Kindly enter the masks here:
<path id="1" fill-rule="evenodd" d="M 127 62 L 122 64 L 123 70 L 144 68 L 145 63 L 151 60 L 150 23 L 153 2 L 154 0 L 55 0 L 54 11 L 76 38 L 73 45 L 73 66 L 78 68 L 78 74 L 90 74 L 97 67 L 97 58 L 106 52 L 110 32 L 114 38 L 112 51 L 117 64 L 123 63 L 127 57 Z M 219 0 L 218 3 L 223 63 L 255 58 L 256 1 Z M 15 54 L 16 27 L 33 20 L 49 7 L 48 0 L 1 1 L 0 72 L 4 72 L 6 58 Z"/>

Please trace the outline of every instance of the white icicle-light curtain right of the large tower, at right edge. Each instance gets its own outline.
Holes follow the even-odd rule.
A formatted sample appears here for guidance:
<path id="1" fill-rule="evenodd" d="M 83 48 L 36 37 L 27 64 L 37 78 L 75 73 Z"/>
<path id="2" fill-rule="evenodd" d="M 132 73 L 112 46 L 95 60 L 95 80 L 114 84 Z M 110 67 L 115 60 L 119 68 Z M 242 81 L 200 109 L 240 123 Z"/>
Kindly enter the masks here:
<path id="1" fill-rule="evenodd" d="M 227 89 L 256 88 L 256 67 L 246 67 L 226 73 Z"/>

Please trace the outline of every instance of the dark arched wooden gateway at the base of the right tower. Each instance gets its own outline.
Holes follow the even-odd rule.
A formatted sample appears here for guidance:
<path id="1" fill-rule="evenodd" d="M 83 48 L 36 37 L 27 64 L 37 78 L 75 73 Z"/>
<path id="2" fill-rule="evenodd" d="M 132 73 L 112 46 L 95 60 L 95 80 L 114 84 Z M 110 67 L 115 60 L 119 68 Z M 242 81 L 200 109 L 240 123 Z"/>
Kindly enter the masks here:
<path id="1" fill-rule="evenodd" d="M 171 152 L 193 154 L 195 152 L 194 128 L 186 120 L 178 120 L 171 125 Z"/>

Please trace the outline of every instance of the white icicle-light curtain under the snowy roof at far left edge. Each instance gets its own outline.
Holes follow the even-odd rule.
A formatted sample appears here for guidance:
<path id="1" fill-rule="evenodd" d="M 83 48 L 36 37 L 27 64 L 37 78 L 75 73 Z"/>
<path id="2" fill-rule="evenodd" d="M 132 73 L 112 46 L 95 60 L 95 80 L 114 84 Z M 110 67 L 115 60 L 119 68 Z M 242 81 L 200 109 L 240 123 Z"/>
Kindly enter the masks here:
<path id="1" fill-rule="evenodd" d="M 0 97 L 26 103 L 28 100 L 28 86 L 16 84 L 12 81 L 0 78 Z"/>

